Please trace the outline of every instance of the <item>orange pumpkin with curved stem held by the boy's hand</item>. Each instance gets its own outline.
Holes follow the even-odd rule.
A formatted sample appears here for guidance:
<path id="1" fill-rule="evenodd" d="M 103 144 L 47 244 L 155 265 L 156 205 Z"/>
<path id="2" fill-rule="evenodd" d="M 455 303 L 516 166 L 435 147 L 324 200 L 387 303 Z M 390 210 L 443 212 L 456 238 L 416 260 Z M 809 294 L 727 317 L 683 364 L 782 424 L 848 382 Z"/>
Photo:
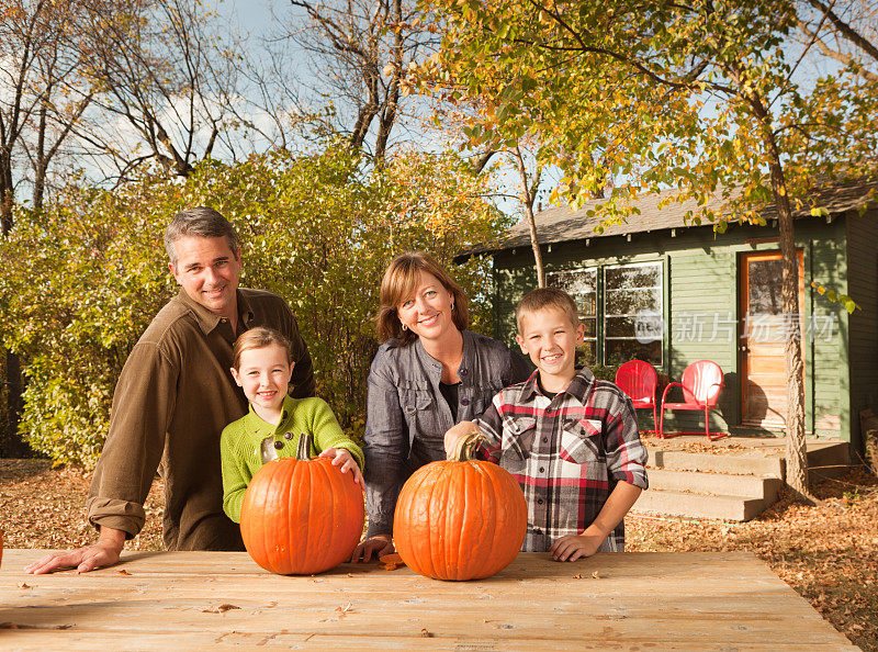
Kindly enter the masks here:
<path id="1" fill-rule="evenodd" d="M 477 580 L 518 554 L 528 507 L 515 477 L 470 459 L 471 439 L 457 461 L 430 462 L 403 486 L 393 517 L 396 551 L 406 565 L 436 580 Z"/>

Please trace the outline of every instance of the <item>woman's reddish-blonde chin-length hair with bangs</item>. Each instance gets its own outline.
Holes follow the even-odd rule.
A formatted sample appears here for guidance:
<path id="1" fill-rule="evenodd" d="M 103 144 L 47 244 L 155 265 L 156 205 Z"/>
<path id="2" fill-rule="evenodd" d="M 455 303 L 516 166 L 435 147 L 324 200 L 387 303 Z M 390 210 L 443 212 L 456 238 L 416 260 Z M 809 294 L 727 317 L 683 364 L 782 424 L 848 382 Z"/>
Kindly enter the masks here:
<path id="1" fill-rule="evenodd" d="M 466 295 L 460 285 L 428 254 L 406 251 L 391 261 L 381 280 L 381 310 L 375 318 L 375 329 L 381 341 L 395 337 L 407 344 L 417 337 L 410 330 L 403 330 L 397 308 L 417 290 L 421 271 L 436 277 L 442 288 L 451 293 L 453 303 L 451 319 L 454 326 L 459 330 L 465 330 L 470 325 L 470 308 Z"/>

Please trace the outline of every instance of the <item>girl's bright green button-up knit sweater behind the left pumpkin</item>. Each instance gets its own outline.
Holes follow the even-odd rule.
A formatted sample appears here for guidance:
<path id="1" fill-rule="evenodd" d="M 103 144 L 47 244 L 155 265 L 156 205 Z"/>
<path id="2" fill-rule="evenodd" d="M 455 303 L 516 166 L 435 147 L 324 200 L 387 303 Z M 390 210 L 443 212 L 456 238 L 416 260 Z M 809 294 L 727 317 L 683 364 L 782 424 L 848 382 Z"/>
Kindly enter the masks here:
<path id="1" fill-rule="evenodd" d="M 283 415 L 277 426 L 250 412 L 230 423 L 219 439 L 223 464 L 223 510 L 235 522 L 240 522 L 240 505 L 250 479 L 262 466 L 262 440 L 274 438 L 279 458 L 295 457 L 302 434 L 311 435 L 311 456 L 327 448 L 344 448 L 363 469 L 363 451 L 345 435 L 331 408 L 322 398 L 292 398 L 283 401 Z M 280 442 L 280 443 L 278 443 Z M 280 447 L 280 448 L 279 448 Z"/>

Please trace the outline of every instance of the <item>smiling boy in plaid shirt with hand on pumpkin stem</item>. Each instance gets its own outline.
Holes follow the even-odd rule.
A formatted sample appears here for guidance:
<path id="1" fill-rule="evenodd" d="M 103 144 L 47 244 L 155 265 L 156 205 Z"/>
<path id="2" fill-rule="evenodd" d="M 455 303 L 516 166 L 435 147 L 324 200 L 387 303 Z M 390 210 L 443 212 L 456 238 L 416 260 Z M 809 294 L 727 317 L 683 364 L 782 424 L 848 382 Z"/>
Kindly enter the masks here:
<path id="1" fill-rule="evenodd" d="M 646 483 L 646 449 L 631 400 L 615 384 L 576 370 L 585 326 L 564 291 L 542 288 L 516 310 L 521 350 L 537 371 L 502 390 L 475 421 L 446 434 L 452 453 L 479 428 L 488 458 L 515 475 L 528 501 L 522 551 L 575 561 L 624 550 L 624 515 Z"/>

